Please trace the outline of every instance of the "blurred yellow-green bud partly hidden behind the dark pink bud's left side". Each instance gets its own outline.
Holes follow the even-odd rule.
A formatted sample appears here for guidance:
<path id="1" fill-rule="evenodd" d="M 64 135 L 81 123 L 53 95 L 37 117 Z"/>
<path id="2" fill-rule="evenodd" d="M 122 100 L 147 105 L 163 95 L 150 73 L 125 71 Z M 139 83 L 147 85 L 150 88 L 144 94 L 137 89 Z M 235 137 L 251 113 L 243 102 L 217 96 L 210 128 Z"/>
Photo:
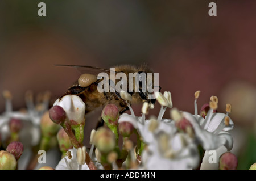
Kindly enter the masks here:
<path id="1" fill-rule="evenodd" d="M 59 125 L 52 122 L 49 117 L 49 111 L 45 112 L 40 121 L 40 127 L 42 129 L 42 134 L 45 137 L 51 137 L 57 133 L 59 130 Z"/>

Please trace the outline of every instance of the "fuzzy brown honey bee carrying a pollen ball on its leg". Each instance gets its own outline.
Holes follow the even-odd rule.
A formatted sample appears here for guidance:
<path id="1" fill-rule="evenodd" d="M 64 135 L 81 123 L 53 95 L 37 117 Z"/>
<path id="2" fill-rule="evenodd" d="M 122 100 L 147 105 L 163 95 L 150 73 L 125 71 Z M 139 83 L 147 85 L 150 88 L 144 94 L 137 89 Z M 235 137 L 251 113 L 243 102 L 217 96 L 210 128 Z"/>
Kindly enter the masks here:
<path id="1" fill-rule="evenodd" d="M 120 114 L 129 110 L 126 100 L 121 98 L 117 90 L 109 91 L 109 92 L 98 91 L 97 87 L 99 83 L 103 81 L 103 78 L 96 79 L 99 73 L 106 73 L 107 75 L 110 75 L 111 73 L 114 73 L 114 75 L 117 75 L 117 73 L 125 73 L 127 77 L 129 77 L 129 73 L 138 73 L 139 75 L 141 75 L 141 73 L 145 73 L 145 74 L 152 73 L 152 77 L 150 77 L 152 82 L 151 86 L 154 87 L 154 73 L 151 69 L 147 68 L 146 65 L 142 65 L 140 67 L 135 67 L 132 65 L 114 66 L 113 67 L 115 70 L 114 72 L 112 71 L 112 69 L 102 69 L 102 68 L 96 68 L 92 66 L 76 66 L 76 65 L 56 65 L 56 66 L 69 66 L 69 67 L 77 68 L 80 71 L 80 73 L 85 73 L 81 75 L 82 81 L 81 79 L 76 81 L 73 84 L 73 86 L 69 87 L 68 91 L 65 92 L 64 94 L 64 95 L 79 96 L 86 105 L 85 114 L 92 112 L 99 107 L 104 107 L 106 106 L 106 104 L 115 104 L 118 107 Z M 147 76 L 147 78 L 149 77 Z M 126 83 L 128 85 L 129 84 L 128 80 L 125 80 L 125 81 L 127 81 Z M 113 86 L 116 85 L 116 83 L 117 81 L 114 81 L 113 79 L 109 79 L 109 89 L 112 89 Z M 160 91 L 161 87 L 160 86 L 156 86 L 156 87 L 158 87 L 158 91 Z M 133 86 L 132 88 L 135 89 L 135 86 Z M 135 90 L 129 91 L 127 88 L 126 92 L 128 92 L 132 97 L 131 102 L 129 102 L 130 104 L 143 103 L 143 102 L 154 104 L 156 100 L 149 96 L 150 92 L 142 91 L 142 79 L 140 77 L 139 77 L 138 91 L 137 92 Z"/>

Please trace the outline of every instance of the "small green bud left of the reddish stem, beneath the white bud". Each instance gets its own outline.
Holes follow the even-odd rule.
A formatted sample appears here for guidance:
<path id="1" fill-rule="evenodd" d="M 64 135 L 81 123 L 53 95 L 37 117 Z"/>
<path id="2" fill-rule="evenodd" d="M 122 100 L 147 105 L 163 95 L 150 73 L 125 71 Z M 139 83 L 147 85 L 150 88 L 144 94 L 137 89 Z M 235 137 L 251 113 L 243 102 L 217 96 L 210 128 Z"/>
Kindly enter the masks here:
<path id="1" fill-rule="evenodd" d="M 60 151 L 63 153 L 66 153 L 69 149 L 72 148 L 68 134 L 64 131 L 63 128 L 60 128 L 59 132 L 57 133 L 57 141 L 59 143 Z"/>

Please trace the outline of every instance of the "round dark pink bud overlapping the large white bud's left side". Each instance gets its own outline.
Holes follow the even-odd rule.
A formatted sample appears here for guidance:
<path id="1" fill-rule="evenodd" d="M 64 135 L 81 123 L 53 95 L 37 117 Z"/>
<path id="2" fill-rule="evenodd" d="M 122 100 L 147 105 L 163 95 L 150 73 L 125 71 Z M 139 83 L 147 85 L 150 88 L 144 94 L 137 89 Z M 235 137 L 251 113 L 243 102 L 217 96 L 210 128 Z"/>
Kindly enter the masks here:
<path id="1" fill-rule="evenodd" d="M 49 117 L 54 123 L 60 124 L 65 121 L 66 112 L 60 106 L 53 106 L 49 109 Z"/>

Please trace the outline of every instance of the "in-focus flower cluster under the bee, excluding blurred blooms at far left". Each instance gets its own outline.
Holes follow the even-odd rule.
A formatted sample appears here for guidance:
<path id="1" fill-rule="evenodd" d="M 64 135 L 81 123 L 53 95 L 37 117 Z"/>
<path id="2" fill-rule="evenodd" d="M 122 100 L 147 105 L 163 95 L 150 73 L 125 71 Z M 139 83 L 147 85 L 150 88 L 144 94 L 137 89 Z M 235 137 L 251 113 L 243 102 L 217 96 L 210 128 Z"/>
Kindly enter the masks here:
<path id="1" fill-rule="evenodd" d="M 191 114 L 172 108 L 170 92 L 156 92 L 155 98 L 161 105 L 159 115 L 146 119 L 154 104 L 144 102 L 142 116 L 135 116 L 131 95 L 122 91 L 120 96 L 131 114 L 119 115 L 117 106 L 106 105 L 101 113 L 105 126 L 92 130 L 90 149 L 82 144 L 86 105 L 79 96 L 65 95 L 49 110 L 52 121 L 63 127 L 61 135 L 65 134 L 60 144 L 63 159 L 56 169 L 199 169 L 205 151 L 220 146 L 232 149 L 233 139 L 226 131 L 234 126 L 229 117 L 230 104 L 226 113 L 218 113 L 216 96 L 201 108 L 199 115 L 199 94 L 200 91 L 195 93 L 195 113 Z M 163 119 L 167 108 L 171 108 L 171 119 Z M 236 157 L 229 158 L 233 160 L 231 166 L 222 159 L 220 169 L 236 167 Z"/>

